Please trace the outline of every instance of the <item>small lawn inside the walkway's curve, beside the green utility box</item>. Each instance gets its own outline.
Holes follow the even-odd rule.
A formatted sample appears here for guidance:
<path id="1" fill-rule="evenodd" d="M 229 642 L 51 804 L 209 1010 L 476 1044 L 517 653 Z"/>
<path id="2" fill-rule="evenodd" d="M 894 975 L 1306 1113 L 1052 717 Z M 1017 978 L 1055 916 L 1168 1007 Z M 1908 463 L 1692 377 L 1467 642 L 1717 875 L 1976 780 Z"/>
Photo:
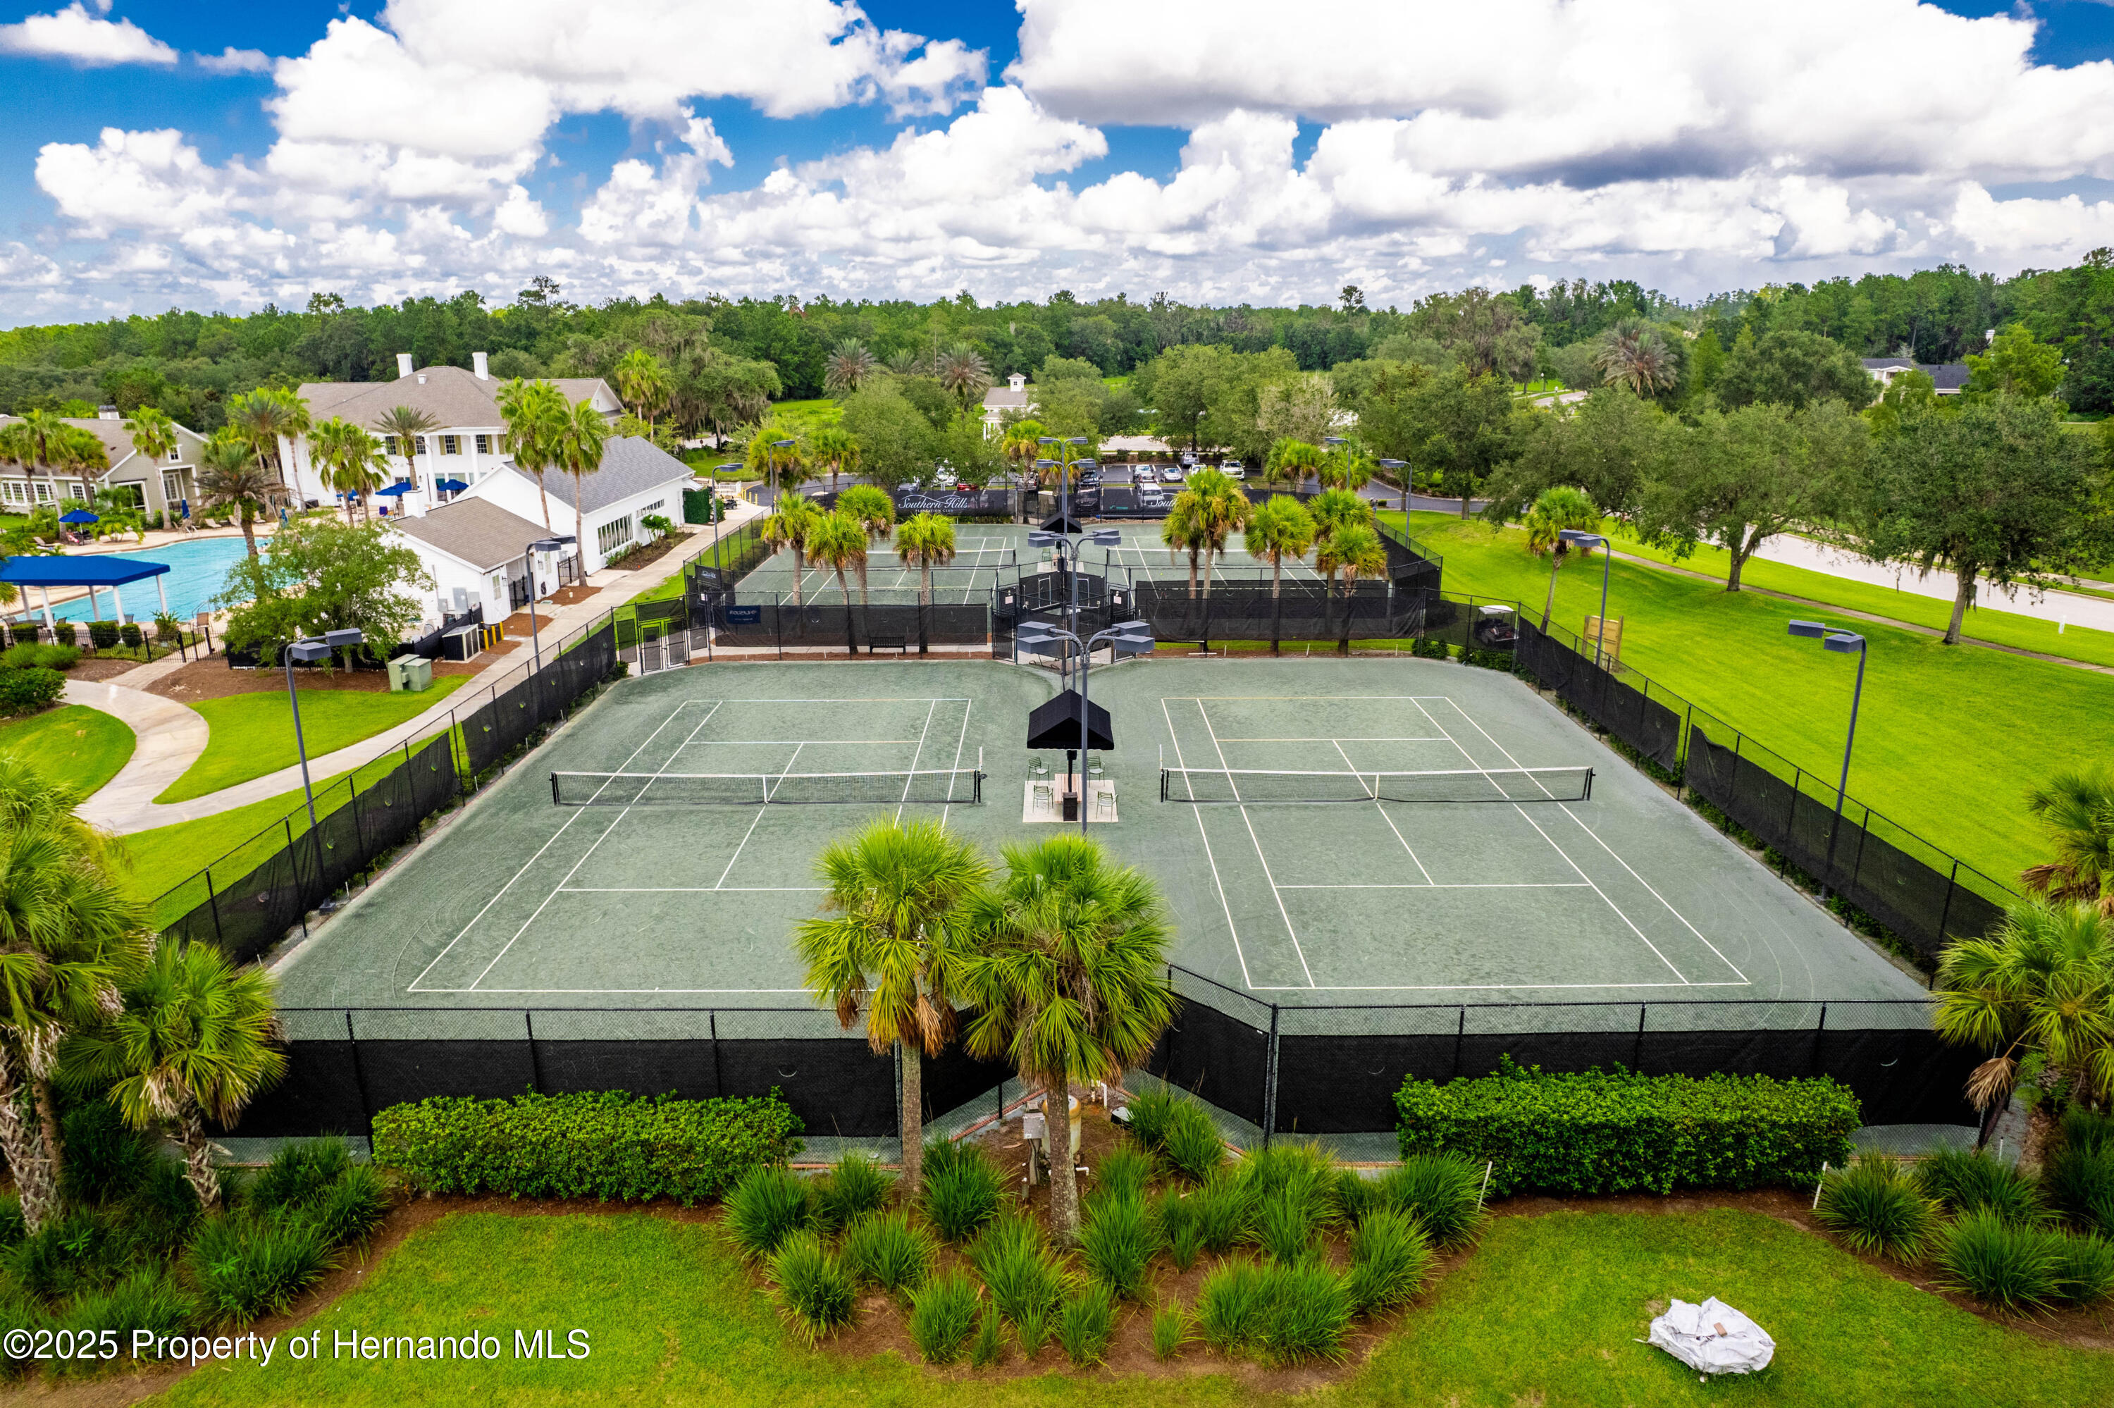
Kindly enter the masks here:
<path id="1" fill-rule="evenodd" d="M 309 757 L 321 757 L 414 719 L 455 693 L 467 679 L 467 674 L 440 674 L 425 693 L 302 689 L 300 731 Z M 190 801 L 300 761 L 294 751 L 294 710 L 285 693 L 277 689 L 203 700 L 192 708 L 205 715 L 211 738 L 199 761 L 154 801 Z"/>

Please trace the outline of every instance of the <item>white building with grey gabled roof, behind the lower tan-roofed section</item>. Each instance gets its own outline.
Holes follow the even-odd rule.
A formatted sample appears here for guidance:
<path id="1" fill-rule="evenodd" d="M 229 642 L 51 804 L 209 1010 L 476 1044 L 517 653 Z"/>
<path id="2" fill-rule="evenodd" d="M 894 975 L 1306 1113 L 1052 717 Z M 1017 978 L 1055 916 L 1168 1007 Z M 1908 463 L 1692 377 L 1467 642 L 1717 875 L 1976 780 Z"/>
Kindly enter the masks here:
<path id="1" fill-rule="evenodd" d="M 579 480 L 586 541 L 579 543 L 577 556 L 583 571 L 598 573 L 609 558 L 647 541 L 651 537 L 645 526 L 649 514 L 683 522 L 683 490 L 693 486 L 691 467 L 651 440 L 611 438 L 602 446 L 602 467 Z M 573 533 L 573 476 L 564 469 L 545 469 L 539 488 L 533 474 L 518 469 L 512 461 L 499 461 L 469 486 L 465 499 L 497 503 L 533 522 L 539 535 L 545 533 L 545 514 L 550 533 Z M 571 558 L 575 552 L 564 556 Z M 564 575 L 571 579 L 571 569 Z M 556 579 L 545 583 L 545 577 L 537 575 L 537 596 L 554 586 Z"/>

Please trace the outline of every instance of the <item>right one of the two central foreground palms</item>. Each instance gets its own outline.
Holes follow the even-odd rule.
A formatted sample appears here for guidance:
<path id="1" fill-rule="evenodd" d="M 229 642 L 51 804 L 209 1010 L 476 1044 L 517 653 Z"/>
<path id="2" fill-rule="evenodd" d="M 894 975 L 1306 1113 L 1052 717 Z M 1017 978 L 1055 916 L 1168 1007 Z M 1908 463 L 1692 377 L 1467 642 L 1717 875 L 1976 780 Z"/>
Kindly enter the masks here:
<path id="1" fill-rule="evenodd" d="M 964 924 L 975 947 L 962 964 L 970 998 L 964 1044 L 1006 1059 L 1044 1089 L 1051 1220 L 1057 1241 L 1078 1241 L 1072 1167 L 1072 1087 L 1118 1080 L 1175 1017 L 1167 987 L 1167 907 L 1144 873 L 1108 860 L 1076 835 L 1008 846 L 1006 873 L 979 892 Z"/>

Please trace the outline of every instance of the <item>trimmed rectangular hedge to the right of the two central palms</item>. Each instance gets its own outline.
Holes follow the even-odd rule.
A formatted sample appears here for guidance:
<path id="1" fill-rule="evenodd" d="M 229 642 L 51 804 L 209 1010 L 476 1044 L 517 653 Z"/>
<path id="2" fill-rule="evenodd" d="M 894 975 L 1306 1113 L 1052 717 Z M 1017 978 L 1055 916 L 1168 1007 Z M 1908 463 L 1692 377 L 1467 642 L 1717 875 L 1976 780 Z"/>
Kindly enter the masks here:
<path id="1" fill-rule="evenodd" d="M 1858 1099 L 1826 1076 L 1497 1074 L 1395 1093 L 1402 1156 L 1490 1161 L 1490 1192 L 1624 1192 L 1812 1184 L 1850 1161 Z"/>

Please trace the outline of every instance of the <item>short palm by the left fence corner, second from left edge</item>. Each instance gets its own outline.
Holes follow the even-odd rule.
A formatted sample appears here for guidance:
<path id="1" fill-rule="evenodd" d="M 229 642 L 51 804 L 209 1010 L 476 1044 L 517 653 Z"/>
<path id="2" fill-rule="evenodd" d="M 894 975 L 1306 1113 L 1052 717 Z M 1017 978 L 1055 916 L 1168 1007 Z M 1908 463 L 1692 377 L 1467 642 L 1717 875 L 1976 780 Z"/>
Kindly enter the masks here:
<path id="1" fill-rule="evenodd" d="M 220 1178 L 205 1120 L 235 1125 L 285 1074 L 271 972 L 235 968 L 203 943 L 161 943 L 123 998 L 116 1017 L 72 1040 L 68 1066 L 87 1082 L 108 1082 L 133 1129 L 167 1131 L 184 1150 L 199 1205 L 214 1211 Z"/>

